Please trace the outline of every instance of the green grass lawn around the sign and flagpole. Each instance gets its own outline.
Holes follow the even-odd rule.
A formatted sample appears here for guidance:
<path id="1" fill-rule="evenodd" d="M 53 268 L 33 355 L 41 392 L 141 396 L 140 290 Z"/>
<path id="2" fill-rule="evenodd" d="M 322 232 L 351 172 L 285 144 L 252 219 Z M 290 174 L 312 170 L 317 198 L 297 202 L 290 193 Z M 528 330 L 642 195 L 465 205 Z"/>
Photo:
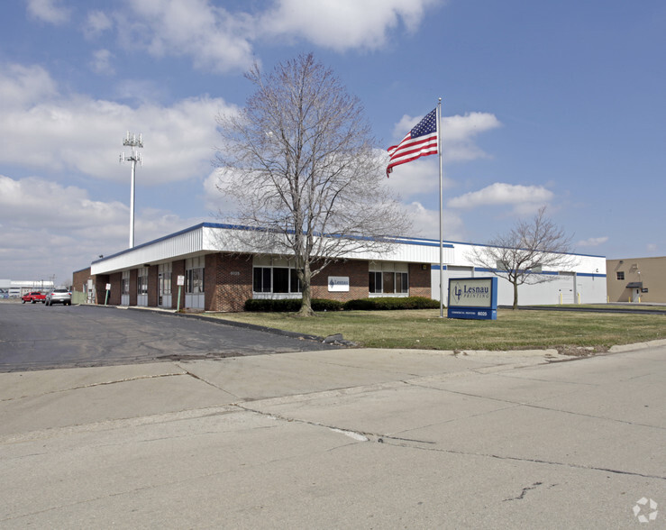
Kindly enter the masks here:
<path id="1" fill-rule="evenodd" d="M 342 334 L 345 340 L 368 348 L 563 350 L 591 347 L 603 352 L 615 344 L 666 338 L 666 315 L 500 309 L 497 320 L 457 320 L 440 318 L 439 314 L 439 309 L 423 309 L 327 312 L 310 318 L 280 313 L 214 316 L 302 334 Z"/>

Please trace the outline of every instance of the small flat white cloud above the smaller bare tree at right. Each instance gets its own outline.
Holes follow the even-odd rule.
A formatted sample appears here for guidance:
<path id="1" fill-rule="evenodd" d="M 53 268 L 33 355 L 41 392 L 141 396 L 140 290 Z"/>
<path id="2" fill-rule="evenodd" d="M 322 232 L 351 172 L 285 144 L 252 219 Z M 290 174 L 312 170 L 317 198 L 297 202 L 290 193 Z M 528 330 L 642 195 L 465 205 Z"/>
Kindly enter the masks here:
<path id="1" fill-rule="evenodd" d="M 522 186 L 496 182 L 488 187 L 452 198 L 447 206 L 452 208 L 477 208 L 479 206 L 514 206 L 518 215 L 536 211 L 552 199 L 551 190 L 542 186 Z"/>

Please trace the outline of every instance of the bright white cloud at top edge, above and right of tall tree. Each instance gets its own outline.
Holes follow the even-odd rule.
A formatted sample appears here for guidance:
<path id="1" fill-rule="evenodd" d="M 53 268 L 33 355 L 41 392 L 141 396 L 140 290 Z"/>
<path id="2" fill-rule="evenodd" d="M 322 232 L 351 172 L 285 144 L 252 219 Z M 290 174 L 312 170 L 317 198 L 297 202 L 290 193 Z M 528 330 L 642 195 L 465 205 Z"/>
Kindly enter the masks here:
<path id="1" fill-rule="evenodd" d="M 402 22 L 415 32 L 426 9 L 438 0 L 279 0 L 264 14 L 260 26 L 269 38 L 306 39 L 337 51 L 377 50 L 388 41 L 388 32 Z"/>

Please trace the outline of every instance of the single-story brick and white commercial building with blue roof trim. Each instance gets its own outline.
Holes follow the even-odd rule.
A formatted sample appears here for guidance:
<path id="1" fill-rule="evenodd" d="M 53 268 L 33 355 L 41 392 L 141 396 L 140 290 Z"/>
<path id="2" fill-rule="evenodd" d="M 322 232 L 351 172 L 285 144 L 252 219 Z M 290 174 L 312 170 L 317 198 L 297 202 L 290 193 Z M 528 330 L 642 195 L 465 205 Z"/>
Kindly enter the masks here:
<path id="1" fill-rule="evenodd" d="M 197 224 L 95 260 L 89 268 L 74 272 L 74 290 L 97 304 L 175 309 L 181 287 L 179 308 L 205 311 L 242 311 L 250 298 L 301 297 L 294 261 L 243 248 L 234 239 L 234 231 L 237 234 L 242 229 Z M 474 246 L 444 243 L 444 297 L 450 278 L 491 276 L 471 261 Z M 520 304 L 606 302 L 606 258 L 571 257 L 573 264 L 567 270 L 543 270 L 552 281 L 521 286 Z M 342 302 L 408 296 L 438 300 L 439 285 L 440 242 L 401 237 L 390 253 L 355 252 L 349 259 L 330 263 L 313 278 L 312 296 Z M 499 279 L 497 301 L 499 305 L 513 303 L 513 286 L 504 279 Z"/>

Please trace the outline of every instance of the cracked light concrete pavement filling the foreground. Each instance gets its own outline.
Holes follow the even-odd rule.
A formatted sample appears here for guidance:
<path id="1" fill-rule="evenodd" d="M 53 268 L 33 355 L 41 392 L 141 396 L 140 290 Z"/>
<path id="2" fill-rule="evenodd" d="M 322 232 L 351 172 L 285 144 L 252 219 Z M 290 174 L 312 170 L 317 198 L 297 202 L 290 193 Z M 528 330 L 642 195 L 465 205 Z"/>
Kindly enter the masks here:
<path id="1" fill-rule="evenodd" d="M 1 373 L 0 526 L 638 527 L 666 507 L 666 342 L 617 350 Z"/>

